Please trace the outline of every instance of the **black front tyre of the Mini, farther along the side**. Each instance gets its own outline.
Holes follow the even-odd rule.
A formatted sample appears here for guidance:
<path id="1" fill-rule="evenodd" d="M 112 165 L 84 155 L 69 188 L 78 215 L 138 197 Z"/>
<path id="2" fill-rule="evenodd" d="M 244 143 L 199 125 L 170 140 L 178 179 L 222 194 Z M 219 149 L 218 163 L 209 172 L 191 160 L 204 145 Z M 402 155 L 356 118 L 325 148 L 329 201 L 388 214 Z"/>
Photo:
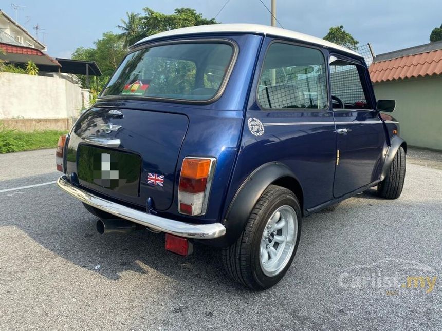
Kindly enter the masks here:
<path id="1" fill-rule="evenodd" d="M 406 157 L 402 147 L 396 152 L 393 163 L 382 182 L 378 184 L 378 195 L 385 199 L 397 199 L 405 180 Z"/>

